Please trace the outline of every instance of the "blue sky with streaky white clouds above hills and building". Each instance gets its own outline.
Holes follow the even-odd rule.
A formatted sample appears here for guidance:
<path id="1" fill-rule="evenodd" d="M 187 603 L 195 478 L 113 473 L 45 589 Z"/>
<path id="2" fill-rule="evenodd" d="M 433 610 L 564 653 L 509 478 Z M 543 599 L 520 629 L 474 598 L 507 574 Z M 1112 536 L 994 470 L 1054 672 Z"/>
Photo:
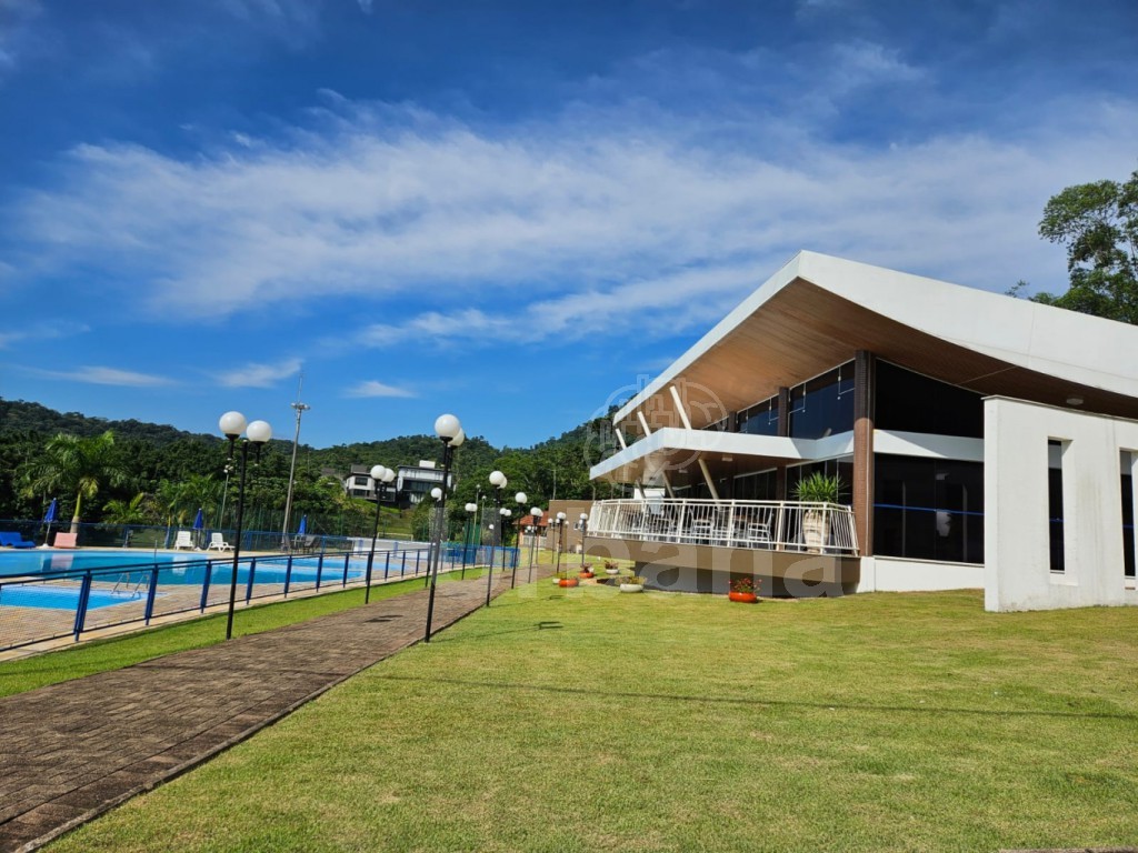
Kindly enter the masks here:
<path id="1" fill-rule="evenodd" d="M 1133 0 L 0 0 L 0 396 L 528 446 L 800 249 L 1061 291 Z"/>

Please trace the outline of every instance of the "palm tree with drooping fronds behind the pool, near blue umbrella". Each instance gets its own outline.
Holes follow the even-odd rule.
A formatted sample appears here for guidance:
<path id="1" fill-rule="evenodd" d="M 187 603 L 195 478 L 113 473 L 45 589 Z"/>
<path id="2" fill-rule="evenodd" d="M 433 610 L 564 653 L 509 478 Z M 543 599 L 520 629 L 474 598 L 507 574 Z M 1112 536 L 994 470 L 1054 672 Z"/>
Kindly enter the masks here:
<path id="1" fill-rule="evenodd" d="M 24 492 L 30 497 L 73 492 L 75 512 L 72 515 L 72 532 L 77 533 L 84 498 L 93 499 L 104 485 L 124 485 L 126 469 L 115 454 L 115 434 L 110 430 L 92 438 L 60 432 L 43 446 L 43 453 L 38 458 L 28 463 L 24 481 Z"/>

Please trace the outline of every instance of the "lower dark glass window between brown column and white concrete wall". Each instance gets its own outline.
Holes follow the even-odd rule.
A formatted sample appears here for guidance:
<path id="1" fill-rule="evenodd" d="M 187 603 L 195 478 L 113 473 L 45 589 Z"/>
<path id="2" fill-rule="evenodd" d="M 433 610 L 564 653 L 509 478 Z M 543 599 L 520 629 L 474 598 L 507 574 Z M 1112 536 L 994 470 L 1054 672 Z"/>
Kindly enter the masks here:
<path id="1" fill-rule="evenodd" d="M 873 548 L 882 556 L 984 561 L 984 474 L 979 462 L 874 458 Z"/>

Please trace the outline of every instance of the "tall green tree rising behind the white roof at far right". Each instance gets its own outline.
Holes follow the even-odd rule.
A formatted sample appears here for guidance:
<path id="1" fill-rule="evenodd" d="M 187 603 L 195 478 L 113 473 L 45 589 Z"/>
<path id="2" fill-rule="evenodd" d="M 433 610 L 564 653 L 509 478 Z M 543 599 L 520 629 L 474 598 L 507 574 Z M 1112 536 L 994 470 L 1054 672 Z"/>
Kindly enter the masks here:
<path id="1" fill-rule="evenodd" d="M 1039 235 L 1066 247 L 1071 287 L 1036 301 L 1138 324 L 1138 171 L 1125 183 L 1097 181 L 1053 196 Z"/>

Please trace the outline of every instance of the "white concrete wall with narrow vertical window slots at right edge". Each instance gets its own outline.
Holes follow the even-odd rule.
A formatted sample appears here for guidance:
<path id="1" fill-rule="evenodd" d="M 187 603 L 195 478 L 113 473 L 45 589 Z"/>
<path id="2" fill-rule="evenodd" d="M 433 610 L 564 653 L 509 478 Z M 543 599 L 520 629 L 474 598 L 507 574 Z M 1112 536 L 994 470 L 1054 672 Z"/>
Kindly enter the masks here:
<path id="1" fill-rule="evenodd" d="M 1049 568 L 1049 439 L 1070 442 L 1063 455 L 1062 573 Z M 984 400 L 986 610 L 1138 604 L 1138 591 L 1127 589 L 1122 574 L 1121 450 L 1138 458 L 1138 422 L 1004 397 Z"/>

